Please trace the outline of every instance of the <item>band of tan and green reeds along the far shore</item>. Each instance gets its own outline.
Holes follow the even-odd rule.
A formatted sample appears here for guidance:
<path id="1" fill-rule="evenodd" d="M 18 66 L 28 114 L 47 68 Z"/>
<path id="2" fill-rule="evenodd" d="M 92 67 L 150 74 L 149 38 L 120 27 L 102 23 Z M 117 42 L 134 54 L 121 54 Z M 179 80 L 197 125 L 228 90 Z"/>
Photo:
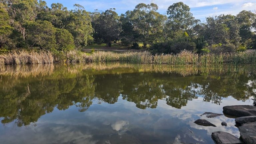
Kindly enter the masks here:
<path id="1" fill-rule="evenodd" d="M 72 62 L 129 62 L 149 64 L 249 64 L 256 63 L 256 51 L 248 50 L 240 53 L 204 54 L 198 55 L 189 51 L 178 54 L 152 55 L 150 52 L 113 53 L 97 51 L 93 54 L 79 51 L 56 54 L 47 51 L 11 51 L 0 55 L 0 65 L 8 64 L 46 64 L 46 63 L 72 63 Z"/>

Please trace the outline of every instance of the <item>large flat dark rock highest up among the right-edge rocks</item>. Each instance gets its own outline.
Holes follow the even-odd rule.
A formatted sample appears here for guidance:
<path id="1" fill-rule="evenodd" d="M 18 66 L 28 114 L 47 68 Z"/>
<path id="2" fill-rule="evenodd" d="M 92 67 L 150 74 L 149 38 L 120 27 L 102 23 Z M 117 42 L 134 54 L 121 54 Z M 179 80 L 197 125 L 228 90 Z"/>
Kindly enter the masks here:
<path id="1" fill-rule="evenodd" d="M 256 107 L 250 105 L 224 106 L 223 113 L 230 116 L 256 116 Z"/>

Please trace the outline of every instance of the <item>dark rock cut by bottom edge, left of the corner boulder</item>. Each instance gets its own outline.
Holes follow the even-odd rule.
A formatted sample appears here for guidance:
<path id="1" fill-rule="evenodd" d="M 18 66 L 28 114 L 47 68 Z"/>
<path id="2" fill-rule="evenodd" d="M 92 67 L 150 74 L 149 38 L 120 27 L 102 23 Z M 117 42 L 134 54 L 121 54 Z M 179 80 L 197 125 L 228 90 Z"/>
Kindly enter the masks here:
<path id="1" fill-rule="evenodd" d="M 237 137 L 223 131 L 213 132 L 212 139 L 215 144 L 243 144 Z"/>

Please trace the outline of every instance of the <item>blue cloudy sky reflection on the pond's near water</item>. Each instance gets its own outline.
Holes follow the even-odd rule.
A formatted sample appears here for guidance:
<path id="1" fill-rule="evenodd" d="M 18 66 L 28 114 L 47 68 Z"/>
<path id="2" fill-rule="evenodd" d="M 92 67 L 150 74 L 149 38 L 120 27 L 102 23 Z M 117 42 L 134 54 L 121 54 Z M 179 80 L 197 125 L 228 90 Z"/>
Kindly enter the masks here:
<path id="1" fill-rule="evenodd" d="M 85 112 L 71 106 L 65 111 L 54 109 L 34 124 L 16 127 L 15 122 L 0 125 L 1 143 L 207 143 L 213 144 L 210 134 L 225 131 L 239 137 L 234 119 L 220 116 L 206 118 L 217 127 L 204 127 L 193 123 L 204 112 L 222 113 L 226 105 L 251 104 L 232 97 L 220 105 L 203 102 L 203 98 L 188 101 L 181 109 L 159 100 L 156 109 L 142 110 L 135 103 L 123 100 L 115 104 L 93 104 Z M 221 122 L 227 122 L 227 127 Z M 36 125 L 36 126 L 35 126 Z"/>

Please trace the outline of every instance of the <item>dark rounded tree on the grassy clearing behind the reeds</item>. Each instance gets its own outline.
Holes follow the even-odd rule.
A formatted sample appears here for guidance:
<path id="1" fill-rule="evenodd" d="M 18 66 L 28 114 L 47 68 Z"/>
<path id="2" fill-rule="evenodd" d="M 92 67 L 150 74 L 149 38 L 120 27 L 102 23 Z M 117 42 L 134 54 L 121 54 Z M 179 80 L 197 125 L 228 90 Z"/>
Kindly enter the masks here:
<path id="1" fill-rule="evenodd" d="M 109 9 L 102 12 L 93 26 L 94 38 L 102 39 L 107 46 L 111 46 L 111 41 L 118 39 L 121 31 L 119 16 L 113 10 L 114 9 Z"/>

